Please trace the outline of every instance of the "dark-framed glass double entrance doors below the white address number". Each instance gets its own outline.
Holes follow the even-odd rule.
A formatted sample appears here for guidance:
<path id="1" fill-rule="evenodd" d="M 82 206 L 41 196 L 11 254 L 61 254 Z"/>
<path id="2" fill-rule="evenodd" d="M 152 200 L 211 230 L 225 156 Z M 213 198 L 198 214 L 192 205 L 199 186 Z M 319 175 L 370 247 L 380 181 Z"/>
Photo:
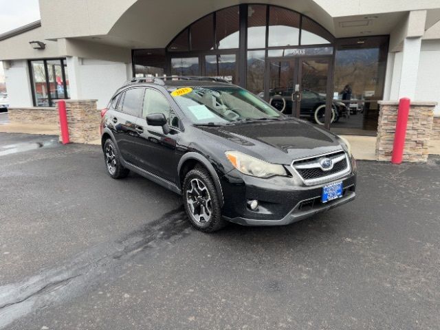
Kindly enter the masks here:
<path id="1" fill-rule="evenodd" d="M 265 99 L 287 115 L 325 124 L 328 128 L 334 113 L 331 98 L 327 98 L 331 96 L 330 69 L 331 56 L 270 58 Z M 330 118 L 328 122 L 326 116 Z"/>

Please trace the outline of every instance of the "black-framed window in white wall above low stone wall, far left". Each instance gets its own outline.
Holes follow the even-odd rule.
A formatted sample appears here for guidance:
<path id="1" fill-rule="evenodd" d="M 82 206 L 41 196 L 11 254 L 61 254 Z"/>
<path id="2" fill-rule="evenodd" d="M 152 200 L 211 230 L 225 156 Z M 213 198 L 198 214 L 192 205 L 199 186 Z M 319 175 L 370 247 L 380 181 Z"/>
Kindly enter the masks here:
<path id="1" fill-rule="evenodd" d="M 35 107 L 54 107 L 55 100 L 69 98 L 63 59 L 30 61 Z"/>

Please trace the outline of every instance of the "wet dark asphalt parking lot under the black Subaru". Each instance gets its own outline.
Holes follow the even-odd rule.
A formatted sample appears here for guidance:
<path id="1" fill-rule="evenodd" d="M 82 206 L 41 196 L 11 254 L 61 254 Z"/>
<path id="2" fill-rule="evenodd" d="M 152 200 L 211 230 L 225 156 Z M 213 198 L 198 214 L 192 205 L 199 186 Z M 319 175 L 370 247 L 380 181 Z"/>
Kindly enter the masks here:
<path id="1" fill-rule="evenodd" d="M 353 203 L 203 234 L 100 146 L 0 133 L 0 329 L 440 329 L 440 158 L 358 168 Z"/>

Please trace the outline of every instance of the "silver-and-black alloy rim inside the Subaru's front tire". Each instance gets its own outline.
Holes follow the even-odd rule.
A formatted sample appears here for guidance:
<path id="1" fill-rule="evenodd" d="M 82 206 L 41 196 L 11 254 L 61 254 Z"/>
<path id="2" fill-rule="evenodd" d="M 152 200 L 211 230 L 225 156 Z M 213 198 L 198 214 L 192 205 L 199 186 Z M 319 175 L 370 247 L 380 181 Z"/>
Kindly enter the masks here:
<path id="1" fill-rule="evenodd" d="M 186 190 L 186 203 L 190 210 L 190 215 L 197 223 L 207 223 L 212 214 L 211 196 L 200 179 L 191 179 L 190 186 Z"/>

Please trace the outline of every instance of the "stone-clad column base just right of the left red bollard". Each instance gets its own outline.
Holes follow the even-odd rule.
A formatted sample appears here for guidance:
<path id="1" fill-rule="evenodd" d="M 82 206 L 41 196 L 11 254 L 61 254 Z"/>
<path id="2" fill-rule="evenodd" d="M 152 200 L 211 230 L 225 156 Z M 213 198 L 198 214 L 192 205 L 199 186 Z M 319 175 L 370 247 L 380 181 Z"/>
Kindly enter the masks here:
<path id="1" fill-rule="evenodd" d="M 65 102 L 70 142 L 86 144 L 99 142 L 101 116 L 96 107 L 97 100 L 65 100 Z"/>

